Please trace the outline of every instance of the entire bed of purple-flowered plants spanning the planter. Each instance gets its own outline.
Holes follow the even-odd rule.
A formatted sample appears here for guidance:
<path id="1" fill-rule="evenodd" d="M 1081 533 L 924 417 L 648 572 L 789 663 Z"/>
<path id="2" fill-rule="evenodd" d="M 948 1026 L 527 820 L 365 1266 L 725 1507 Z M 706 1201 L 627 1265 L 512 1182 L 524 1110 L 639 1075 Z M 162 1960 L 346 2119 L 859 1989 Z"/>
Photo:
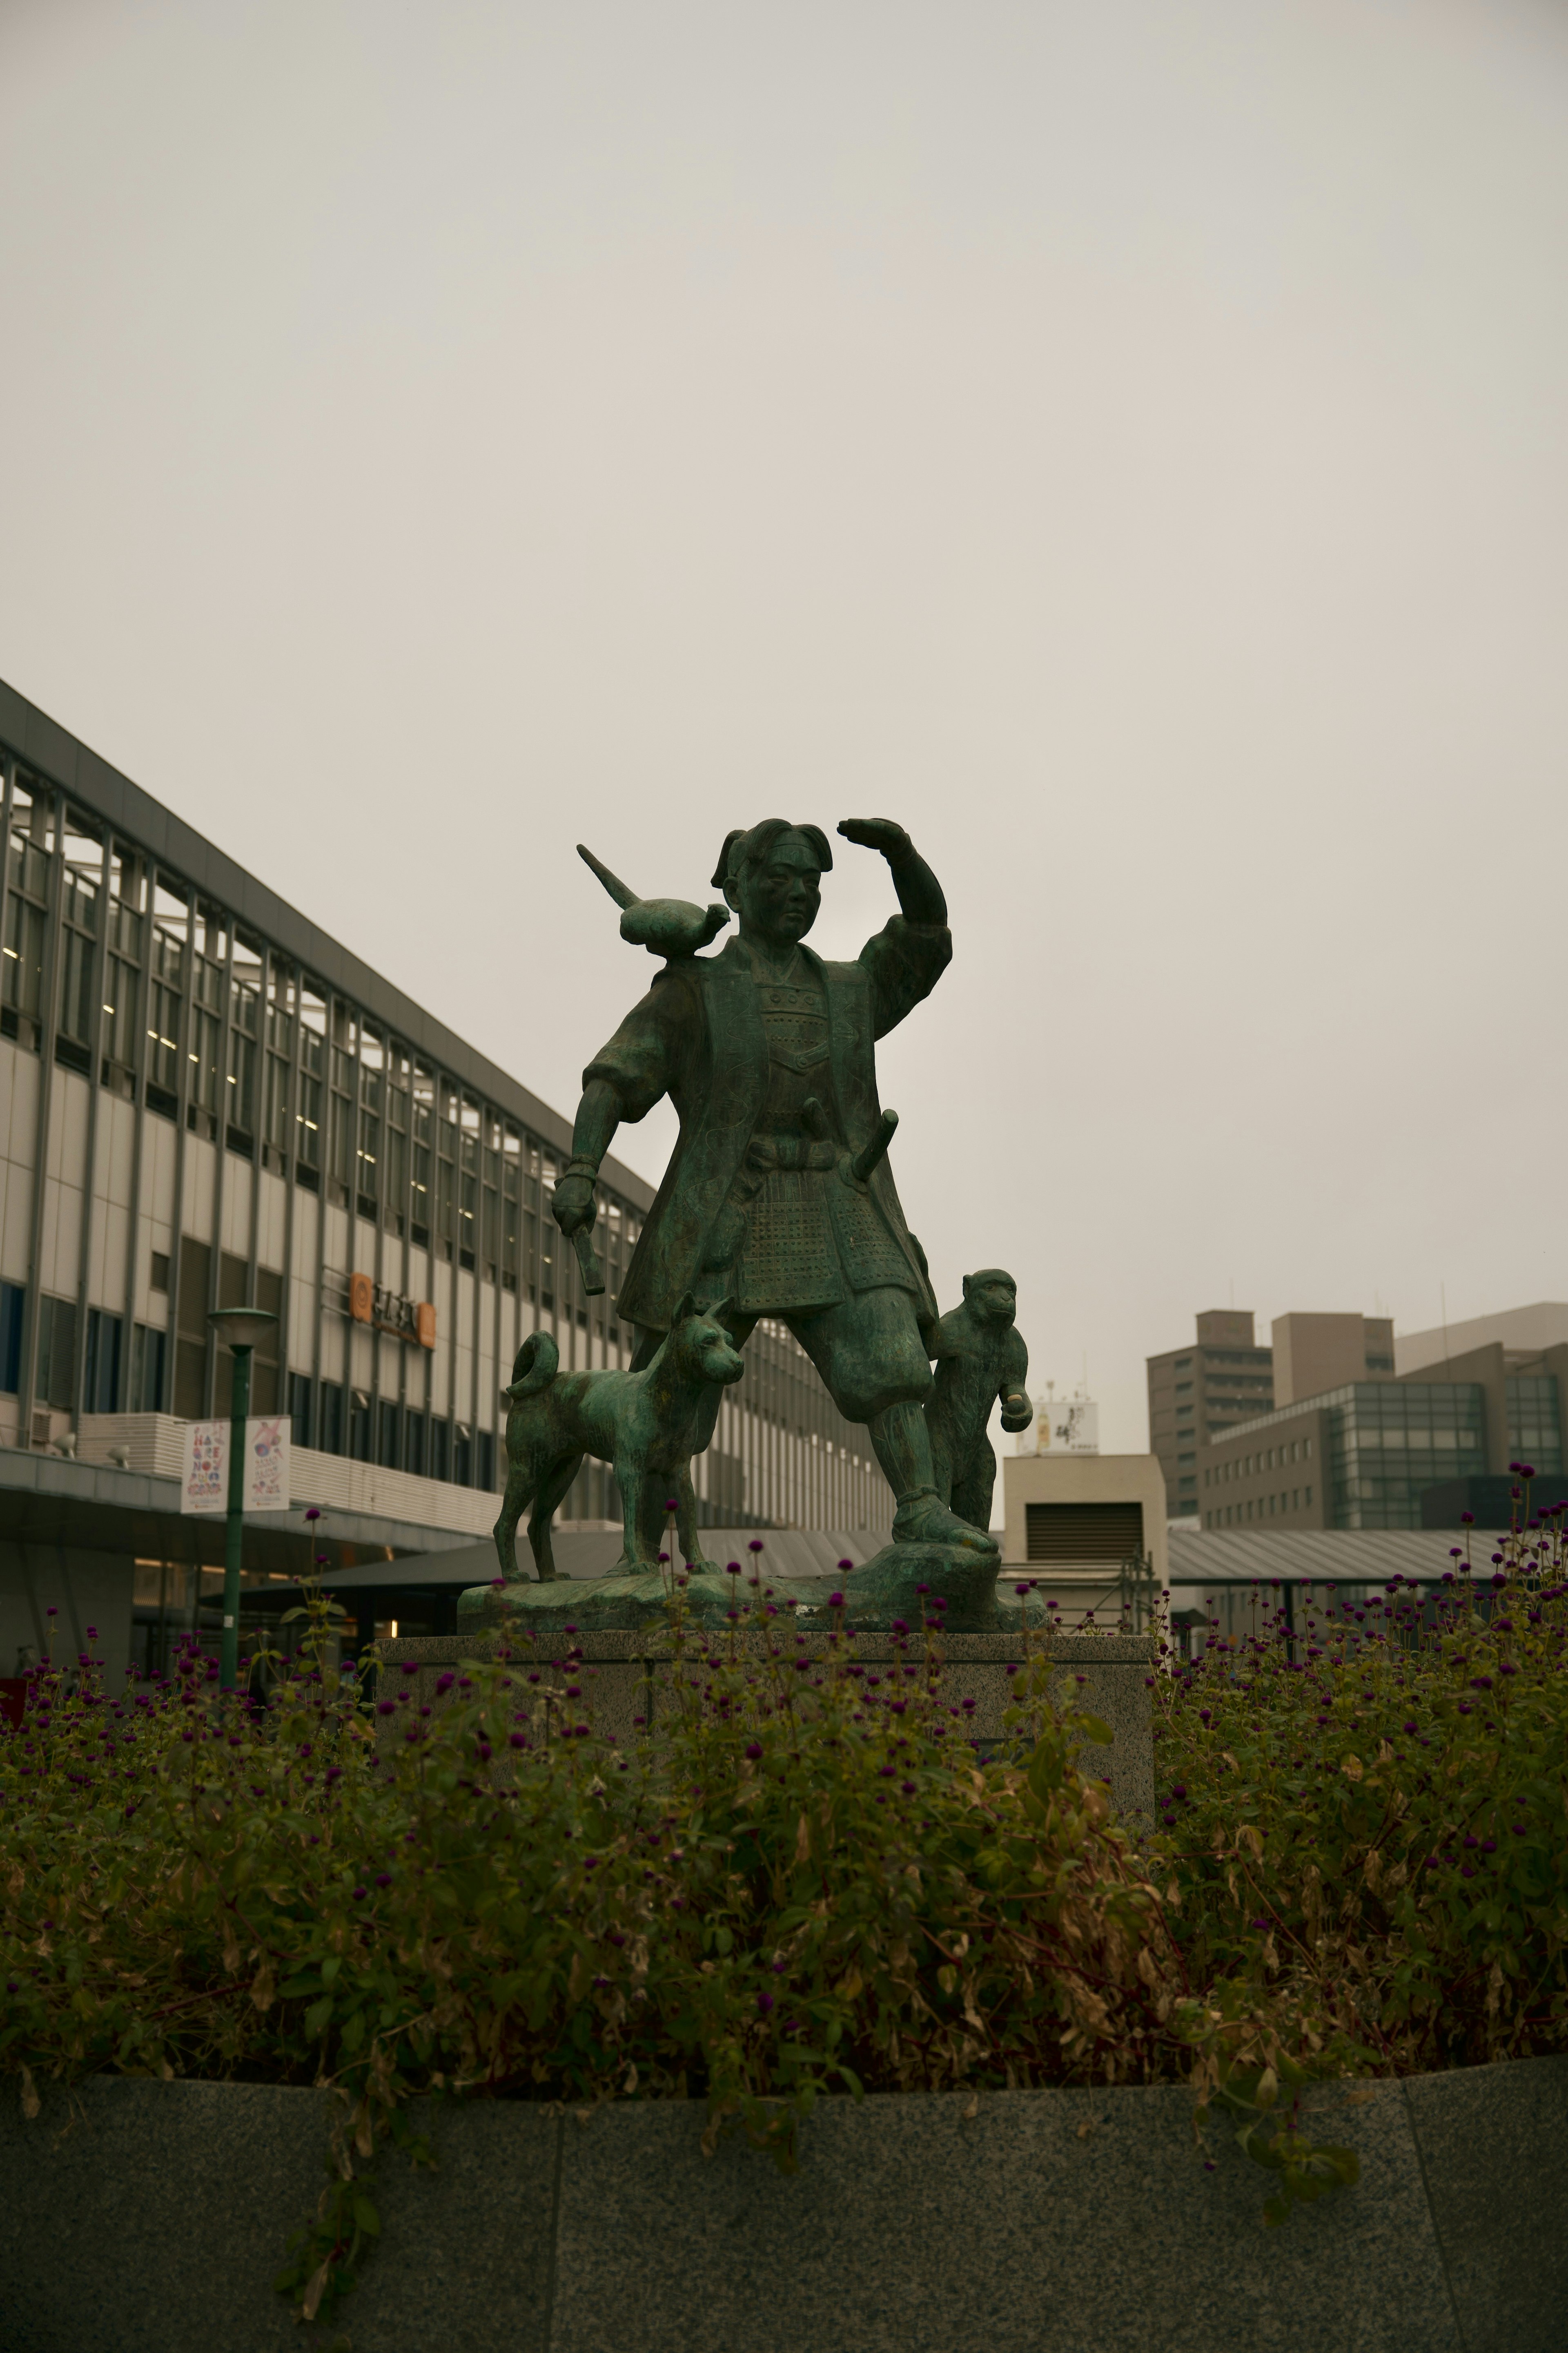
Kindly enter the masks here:
<path id="1" fill-rule="evenodd" d="M 329 2087 L 329 2186 L 280 2282 L 313 2320 L 378 2242 L 386 2184 L 409 2195 L 381 2151 L 423 2153 L 428 2094 L 508 2132 L 534 2129 L 522 2108 L 543 2129 L 656 2106 L 658 2129 L 790 2172 L 865 2094 L 964 2115 L 1166 2085 L 1197 2193 L 1232 2195 L 1222 2120 L 1284 2219 L 1356 2177 L 1356 2132 L 1312 2085 L 1561 2047 L 1559 1565 L 1554 1525 L 1453 1626 L 1368 1621 L 1293 1654 L 1260 1621 L 1211 1649 L 1159 1694 L 1171 1819 L 1143 1845 L 1079 1772 L 1110 1727 L 1058 1713 L 1046 1633 L 1020 1642 L 1009 1753 L 983 1762 L 936 1614 L 893 1657 L 839 1631 L 799 1666 L 759 1581 L 750 1633 L 684 1626 L 672 1595 L 658 1744 L 595 1722 L 571 1640 L 458 1661 L 440 1697 L 402 1661 L 367 1713 L 322 1671 L 320 1595 L 263 1713 L 195 1654 L 120 1699 L 92 1659 L 75 1689 L 47 1668 L 0 1739 L 0 2066 L 35 2122 L 103 2073 Z M 1385 1758 L 1394 1706 L 1418 1729 Z M 1505 1800 L 1526 1821 L 1497 1845 L 1507 1878 L 1441 1878 Z"/>

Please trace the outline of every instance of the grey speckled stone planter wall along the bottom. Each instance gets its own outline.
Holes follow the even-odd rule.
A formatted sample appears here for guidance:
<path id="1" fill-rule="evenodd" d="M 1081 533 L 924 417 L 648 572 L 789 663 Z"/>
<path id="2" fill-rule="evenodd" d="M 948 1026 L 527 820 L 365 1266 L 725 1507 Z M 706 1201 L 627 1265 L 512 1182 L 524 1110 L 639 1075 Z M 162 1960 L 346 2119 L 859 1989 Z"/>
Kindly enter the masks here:
<path id="1" fill-rule="evenodd" d="M 5 2353 L 1561 2353 L 1568 2061 L 1314 2097 L 1361 2184 L 1262 2224 L 1192 2101 L 823 2101 L 802 2165 L 701 2155 L 693 2104 L 423 2104 L 334 2329 L 273 2294 L 322 2094 L 96 2080 L 0 2108 Z"/>

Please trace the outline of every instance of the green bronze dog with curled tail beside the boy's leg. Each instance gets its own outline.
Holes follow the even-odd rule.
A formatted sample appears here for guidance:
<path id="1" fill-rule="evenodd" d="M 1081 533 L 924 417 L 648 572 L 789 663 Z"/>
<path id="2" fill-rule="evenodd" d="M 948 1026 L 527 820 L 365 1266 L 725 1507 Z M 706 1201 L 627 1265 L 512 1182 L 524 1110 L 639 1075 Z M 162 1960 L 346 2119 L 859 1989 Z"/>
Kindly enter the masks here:
<path id="1" fill-rule="evenodd" d="M 505 1417 L 505 1501 L 496 1520 L 501 1574 L 517 1574 L 517 1520 L 529 1515 L 529 1544 L 541 1584 L 555 1574 L 550 1520 L 585 1454 L 609 1464 L 621 1489 L 625 1541 L 616 1569 L 656 1569 L 665 1499 L 679 1499 L 677 1534 L 693 1569 L 712 1567 L 696 1541 L 691 1445 L 705 1391 L 729 1386 L 745 1360 L 719 1322 L 729 1301 L 698 1311 L 691 1292 L 675 1311 L 658 1355 L 644 1372 L 562 1372 L 548 1332 L 524 1339 Z"/>

